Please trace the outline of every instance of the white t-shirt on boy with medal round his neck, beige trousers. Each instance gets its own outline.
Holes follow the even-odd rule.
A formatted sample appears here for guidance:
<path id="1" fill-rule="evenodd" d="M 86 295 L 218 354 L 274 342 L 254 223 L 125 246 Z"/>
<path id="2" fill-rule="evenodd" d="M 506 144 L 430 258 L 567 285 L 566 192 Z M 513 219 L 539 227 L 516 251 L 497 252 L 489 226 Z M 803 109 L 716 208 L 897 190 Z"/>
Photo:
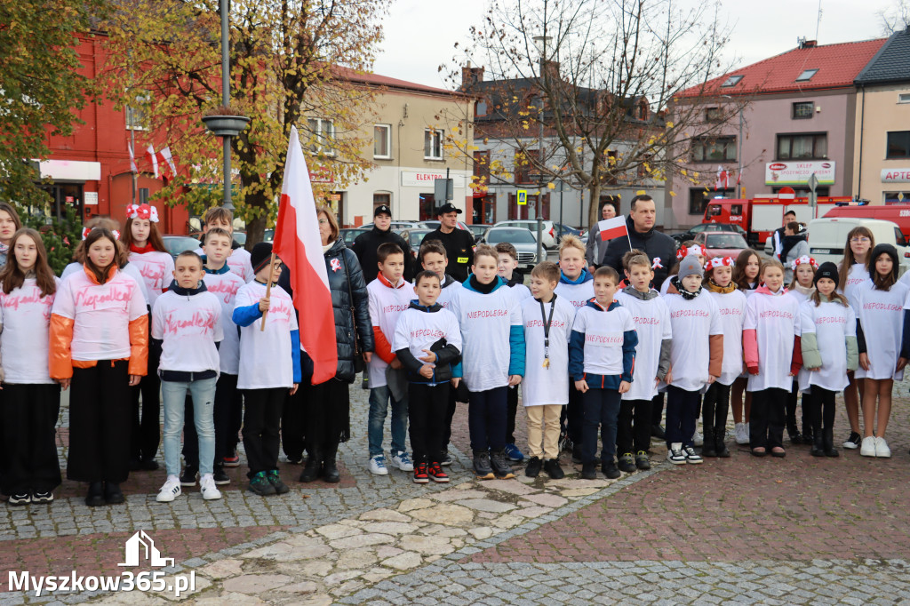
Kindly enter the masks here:
<path id="1" fill-rule="evenodd" d="M 555 307 L 554 307 L 555 306 Z M 544 323 L 551 318 L 550 364 L 544 367 Z M 536 298 L 521 301 L 521 321 L 524 324 L 524 379 L 521 380 L 521 402 L 525 406 L 545 406 L 569 403 L 569 338 L 575 321 L 575 307 L 555 295 L 543 304 Z"/>

